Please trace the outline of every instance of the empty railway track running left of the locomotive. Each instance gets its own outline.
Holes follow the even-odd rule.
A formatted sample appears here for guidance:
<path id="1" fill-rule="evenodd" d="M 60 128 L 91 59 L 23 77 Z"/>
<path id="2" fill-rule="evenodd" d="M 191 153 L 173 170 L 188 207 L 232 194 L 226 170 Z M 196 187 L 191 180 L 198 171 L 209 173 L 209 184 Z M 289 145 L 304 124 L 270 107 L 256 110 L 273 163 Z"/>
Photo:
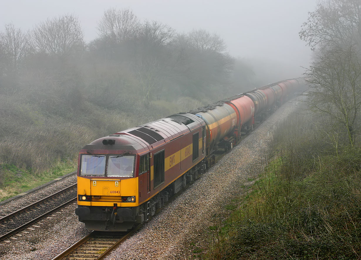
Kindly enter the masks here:
<path id="1" fill-rule="evenodd" d="M 6 238 L 16 239 L 12 236 L 31 225 L 35 228 L 39 227 L 34 224 L 75 200 L 77 200 L 77 183 L 0 218 L 0 241 Z"/>

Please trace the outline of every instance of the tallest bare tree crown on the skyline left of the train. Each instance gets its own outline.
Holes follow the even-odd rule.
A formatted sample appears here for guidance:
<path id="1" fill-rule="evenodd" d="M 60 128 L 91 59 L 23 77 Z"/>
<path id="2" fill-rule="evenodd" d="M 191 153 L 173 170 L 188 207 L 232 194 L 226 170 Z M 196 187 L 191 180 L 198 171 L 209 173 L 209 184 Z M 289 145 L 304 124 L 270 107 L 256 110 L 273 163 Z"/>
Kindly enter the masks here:
<path id="1" fill-rule="evenodd" d="M 106 10 L 97 27 L 101 37 L 112 39 L 113 43 L 134 39 L 138 28 L 139 19 L 129 8 Z"/>

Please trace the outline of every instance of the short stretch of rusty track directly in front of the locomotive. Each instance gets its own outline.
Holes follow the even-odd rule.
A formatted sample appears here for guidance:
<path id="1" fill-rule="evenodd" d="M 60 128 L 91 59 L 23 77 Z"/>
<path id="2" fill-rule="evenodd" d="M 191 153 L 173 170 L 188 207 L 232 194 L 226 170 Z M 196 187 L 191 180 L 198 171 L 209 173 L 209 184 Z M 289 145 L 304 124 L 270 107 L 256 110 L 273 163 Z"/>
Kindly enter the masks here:
<path id="1" fill-rule="evenodd" d="M 104 256 L 125 241 L 141 226 L 136 226 L 130 232 L 92 231 L 52 260 L 103 259 Z"/>

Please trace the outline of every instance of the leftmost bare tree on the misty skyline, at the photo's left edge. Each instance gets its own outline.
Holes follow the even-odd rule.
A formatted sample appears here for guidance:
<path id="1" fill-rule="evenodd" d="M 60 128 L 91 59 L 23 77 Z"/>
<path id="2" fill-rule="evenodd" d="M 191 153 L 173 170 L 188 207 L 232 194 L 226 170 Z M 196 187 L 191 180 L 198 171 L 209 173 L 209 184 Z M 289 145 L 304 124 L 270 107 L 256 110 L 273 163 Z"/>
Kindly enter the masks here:
<path id="1" fill-rule="evenodd" d="M 27 34 L 20 28 L 16 29 L 12 23 L 5 25 L 5 31 L 0 32 L 0 48 L 5 61 L 3 66 L 16 74 L 29 50 Z"/>

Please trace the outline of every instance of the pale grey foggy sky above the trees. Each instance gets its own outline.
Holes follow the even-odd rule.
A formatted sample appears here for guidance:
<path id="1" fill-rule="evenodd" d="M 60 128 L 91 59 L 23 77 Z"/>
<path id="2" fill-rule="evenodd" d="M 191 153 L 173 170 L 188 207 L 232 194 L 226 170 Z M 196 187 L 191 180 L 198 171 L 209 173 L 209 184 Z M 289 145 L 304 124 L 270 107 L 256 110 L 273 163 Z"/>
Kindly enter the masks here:
<path id="1" fill-rule="evenodd" d="M 1 0 L 0 30 L 10 22 L 28 30 L 48 17 L 74 13 L 89 42 L 97 36 L 97 21 L 104 10 L 129 7 L 141 21 L 157 20 L 177 32 L 216 32 L 230 55 L 274 61 L 291 78 L 301 75 L 300 66 L 308 67 L 310 62 L 310 48 L 298 32 L 315 6 L 316 0 Z"/>

